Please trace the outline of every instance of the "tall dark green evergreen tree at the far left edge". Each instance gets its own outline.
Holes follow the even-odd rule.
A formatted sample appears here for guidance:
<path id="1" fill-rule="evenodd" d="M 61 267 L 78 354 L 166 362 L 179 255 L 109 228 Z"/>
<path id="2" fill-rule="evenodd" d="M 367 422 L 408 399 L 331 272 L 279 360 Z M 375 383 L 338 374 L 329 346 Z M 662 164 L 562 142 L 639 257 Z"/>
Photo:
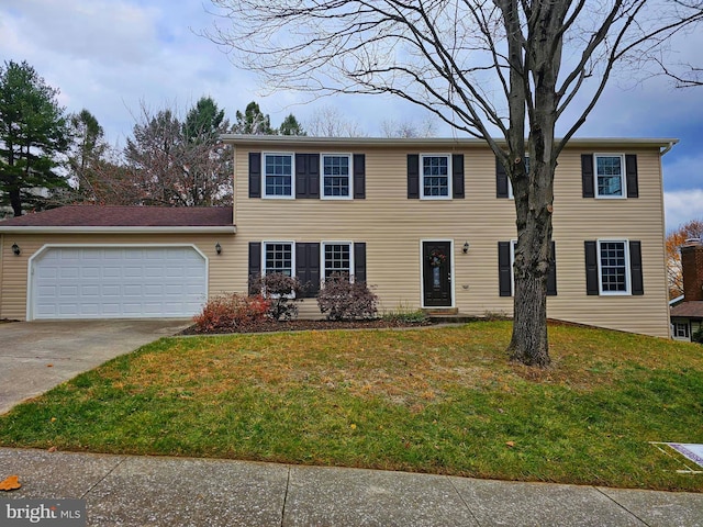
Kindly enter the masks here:
<path id="1" fill-rule="evenodd" d="M 44 208 L 43 194 L 68 187 L 56 172 L 57 156 L 69 145 L 57 94 L 26 61 L 0 67 L 0 203 L 15 216 Z"/>

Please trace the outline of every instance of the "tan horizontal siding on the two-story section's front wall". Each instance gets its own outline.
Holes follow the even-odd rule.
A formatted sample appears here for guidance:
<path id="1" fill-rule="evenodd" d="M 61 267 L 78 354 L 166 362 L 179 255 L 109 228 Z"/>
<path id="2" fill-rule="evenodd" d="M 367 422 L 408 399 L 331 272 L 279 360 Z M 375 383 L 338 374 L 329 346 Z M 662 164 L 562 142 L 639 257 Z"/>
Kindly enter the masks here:
<path id="1" fill-rule="evenodd" d="M 238 250 L 246 251 L 252 240 L 366 242 L 368 283 L 376 287 L 381 307 L 416 309 L 421 305 L 420 240 L 451 239 L 455 305 L 470 315 L 512 313 L 512 299 L 498 294 L 498 242 L 515 238 L 515 211 L 512 200 L 495 198 L 495 158 L 490 150 L 460 150 L 465 155 L 466 199 L 449 201 L 406 198 L 406 155 L 429 150 L 372 148 L 364 152 L 365 200 L 249 200 L 248 152 L 237 148 L 235 162 Z M 613 148 L 596 152 L 625 154 Z M 581 153 L 567 149 L 557 168 L 554 237 L 559 294 L 549 298 L 548 314 L 554 318 L 666 337 L 669 322 L 658 150 L 626 152 L 638 155 L 639 179 L 639 198 L 626 200 L 581 197 Z M 583 242 L 599 238 L 641 242 L 644 296 L 585 294 Z M 467 255 L 461 251 L 465 242 L 470 244 Z M 234 262 L 235 289 L 244 289 L 246 267 L 246 258 Z M 301 315 L 317 316 L 314 301 L 305 302 Z"/>

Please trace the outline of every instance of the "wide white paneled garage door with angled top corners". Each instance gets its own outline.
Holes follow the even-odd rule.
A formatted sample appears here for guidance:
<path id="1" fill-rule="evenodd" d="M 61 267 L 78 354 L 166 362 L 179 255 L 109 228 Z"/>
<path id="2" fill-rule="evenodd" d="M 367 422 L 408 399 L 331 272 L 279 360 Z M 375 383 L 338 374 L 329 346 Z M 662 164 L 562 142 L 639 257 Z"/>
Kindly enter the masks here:
<path id="1" fill-rule="evenodd" d="M 31 316 L 192 316 L 207 291 L 207 261 L 192 247 L 49 247 L 32 262 Z"/>

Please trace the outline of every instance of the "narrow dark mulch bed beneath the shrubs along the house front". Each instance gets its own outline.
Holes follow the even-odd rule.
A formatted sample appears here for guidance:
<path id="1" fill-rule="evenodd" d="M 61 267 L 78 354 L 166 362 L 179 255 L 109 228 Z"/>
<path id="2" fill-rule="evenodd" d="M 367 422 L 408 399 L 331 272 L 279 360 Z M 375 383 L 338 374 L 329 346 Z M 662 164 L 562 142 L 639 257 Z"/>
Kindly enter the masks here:
<path id="1" fill-rule="evenodd" d="M 371 321 L 281 321 L 266 318 L 261 322 L 239 325 L 236 327 L 217 327 L 212 330 L 200 329 L 193 325 L 187 327 L 179 335 L 222 335 L 230 333 L 270 333 L 270 332 L 304 332 L 322 329 L 373 329 L 373 328 L 400 328 L 431 326 L 431 321 L 408 322 L 392 318 L 373 318 Z"/>

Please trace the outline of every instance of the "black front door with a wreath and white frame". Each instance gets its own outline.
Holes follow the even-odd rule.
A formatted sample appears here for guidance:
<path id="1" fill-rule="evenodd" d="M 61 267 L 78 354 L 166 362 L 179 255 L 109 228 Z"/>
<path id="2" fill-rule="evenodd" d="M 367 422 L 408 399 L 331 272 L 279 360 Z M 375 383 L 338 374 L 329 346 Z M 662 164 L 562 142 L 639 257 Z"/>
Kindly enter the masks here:
<path id="1" fill-rule="evenodd" d="M 424 307 L 451 306 L 451 243 L 422 243 Z"/>

